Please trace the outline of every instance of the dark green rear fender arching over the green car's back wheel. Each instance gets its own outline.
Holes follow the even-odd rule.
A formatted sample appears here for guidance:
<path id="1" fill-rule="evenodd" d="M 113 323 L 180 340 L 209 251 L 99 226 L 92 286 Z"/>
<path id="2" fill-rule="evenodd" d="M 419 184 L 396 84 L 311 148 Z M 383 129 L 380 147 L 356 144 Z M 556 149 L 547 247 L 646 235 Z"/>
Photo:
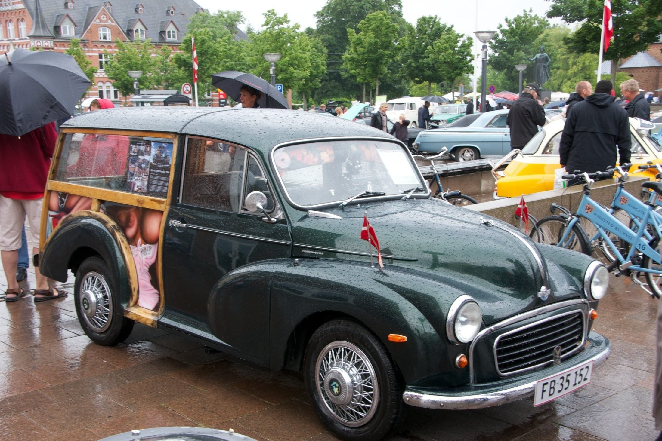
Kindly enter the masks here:
<path id="1" fill-rule="evenodd" d="M 131 298 L 130 279 L 117 233 L 124 237 L 117 224 L 103 214 L 73 213 L 48 237 L 40 253 L 39 270 L 46 277 L 66 282 L 68 269 L 75 271 L 87 257 L 99 255 L 113 272 L 120 303 L 126 307 Z"/>

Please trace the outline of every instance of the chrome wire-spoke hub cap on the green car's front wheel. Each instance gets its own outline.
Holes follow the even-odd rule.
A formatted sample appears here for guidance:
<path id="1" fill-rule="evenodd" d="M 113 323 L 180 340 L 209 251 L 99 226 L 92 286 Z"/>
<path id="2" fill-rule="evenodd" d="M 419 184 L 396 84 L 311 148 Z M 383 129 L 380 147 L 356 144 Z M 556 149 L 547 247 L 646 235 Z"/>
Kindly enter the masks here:
<path id="1" fill-rule="evenodd" d="M 379 384 L 370 360 L 355 344 L 327 344 L 315 364 L 317 391 L 332 417 L 350 427 L 367 424 L 379 402 Z"/>

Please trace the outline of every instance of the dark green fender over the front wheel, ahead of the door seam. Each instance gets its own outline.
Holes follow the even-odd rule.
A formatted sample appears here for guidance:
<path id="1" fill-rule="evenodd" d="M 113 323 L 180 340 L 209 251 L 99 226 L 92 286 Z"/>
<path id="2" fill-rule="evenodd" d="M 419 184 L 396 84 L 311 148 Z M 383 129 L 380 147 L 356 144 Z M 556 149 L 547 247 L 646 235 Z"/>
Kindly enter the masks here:
<path id="1" fill-rule="evenodd" d="M 464 294 L 455 288 L 414 270 L 389 266 L 377 271 L 359 262 L 299 259 L 294 264 L 283 259 L 272 262 L 269 271 L 273 274 L 271 368 L 287 364 L 300 369 L 314 329 L 328 317 L 353 317 L 383 342 L 408 384 L 442 381 L 450 386 L 469 380 L 468 370 L 457 368 L 454 361 L 461 352 L 467 353 L 467 346 L 446 339 L 448 307 Z M 315 320 L 308 321 L 308 332 L 297 333 L 310 317 Z M 389 334 L 404 335 L 407 341 L 389 341 Z M 284 360 L 288 343 L 299 348 L 294 362 Z"/>

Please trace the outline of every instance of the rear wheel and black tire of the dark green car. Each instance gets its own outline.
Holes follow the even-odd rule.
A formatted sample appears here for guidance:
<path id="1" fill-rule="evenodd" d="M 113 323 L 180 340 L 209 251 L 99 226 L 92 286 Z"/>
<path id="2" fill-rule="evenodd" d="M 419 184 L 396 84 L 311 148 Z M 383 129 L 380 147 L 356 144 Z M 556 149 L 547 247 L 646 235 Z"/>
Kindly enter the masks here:
<path id="1" fill-rule="evenodd" d="M 78 321 L 91 341 L 113 346 L 126 340 L 134 321 L 124 317 L 117 281 L 101 257 L 88 257 L 81 263 L 74 289 Z"/>

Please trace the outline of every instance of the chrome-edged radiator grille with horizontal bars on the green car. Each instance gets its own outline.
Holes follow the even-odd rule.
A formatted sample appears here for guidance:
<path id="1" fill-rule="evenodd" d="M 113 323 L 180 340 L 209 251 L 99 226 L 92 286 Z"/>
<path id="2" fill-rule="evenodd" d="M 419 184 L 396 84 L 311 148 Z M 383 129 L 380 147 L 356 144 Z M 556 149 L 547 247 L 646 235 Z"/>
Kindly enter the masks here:
<path id="1" fill-rule="evenodd" d="M 544 366 L 553 362 L 557 346 L 561 347 L 561 358 L 579 350 L 584 335 L 581 311 L 515 329 L 496 339 L 496 368 L 501 375 L 508 375 Z"/>

